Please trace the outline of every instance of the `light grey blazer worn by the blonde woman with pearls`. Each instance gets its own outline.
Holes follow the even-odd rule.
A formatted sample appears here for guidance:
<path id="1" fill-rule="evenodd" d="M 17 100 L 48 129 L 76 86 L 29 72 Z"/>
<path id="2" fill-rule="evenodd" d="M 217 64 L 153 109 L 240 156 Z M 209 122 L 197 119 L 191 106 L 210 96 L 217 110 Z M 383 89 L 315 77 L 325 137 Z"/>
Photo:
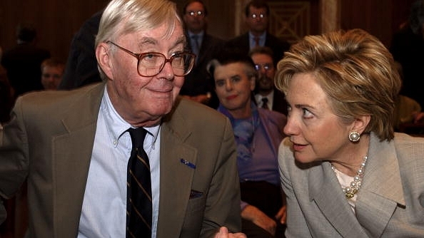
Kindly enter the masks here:
<path id="1" fill-rule="evenodd" d="M 424 237 L 424 139 L 396 133 L 390 143 L 371 133 L 355 214 L 329 162 L 295 162 L 279 148 L 287 196 L 286 237 Z"/>

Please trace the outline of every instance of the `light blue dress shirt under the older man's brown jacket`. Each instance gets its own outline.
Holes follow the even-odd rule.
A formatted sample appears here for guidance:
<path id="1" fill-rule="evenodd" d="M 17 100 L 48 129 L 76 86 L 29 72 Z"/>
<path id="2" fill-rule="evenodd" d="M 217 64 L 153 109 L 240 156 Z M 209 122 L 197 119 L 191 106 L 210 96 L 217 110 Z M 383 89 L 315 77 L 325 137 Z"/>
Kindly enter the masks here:
<path id="1" fill-rule="evenodd" d="M 79 238 L 126 237 L 126 180 L 132 146 L 126 130 L 130 127 L 113 108 L 105 88 L 84 193 Z M 145 129 L 148 133 L 143 148 L 151 165 L 153 238 L 158 224 L 161 138 L 159 125 Z"/>

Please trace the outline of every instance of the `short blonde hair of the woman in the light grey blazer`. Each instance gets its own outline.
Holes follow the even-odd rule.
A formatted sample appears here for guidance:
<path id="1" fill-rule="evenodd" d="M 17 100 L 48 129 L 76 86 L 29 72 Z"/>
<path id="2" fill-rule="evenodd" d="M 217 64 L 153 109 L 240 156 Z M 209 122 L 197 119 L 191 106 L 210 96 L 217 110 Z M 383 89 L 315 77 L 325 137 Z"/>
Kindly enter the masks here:
<path id="1" fill-rule="evenodd" d="M 278 62 L 276 87 L 287 92 L 295 73 L 312 73 L 344 122 L 370 115 L 364 133 L 392 140 L 400 78 L 393 57 L 378 38 L 361 29 L 306 36 Z"/>

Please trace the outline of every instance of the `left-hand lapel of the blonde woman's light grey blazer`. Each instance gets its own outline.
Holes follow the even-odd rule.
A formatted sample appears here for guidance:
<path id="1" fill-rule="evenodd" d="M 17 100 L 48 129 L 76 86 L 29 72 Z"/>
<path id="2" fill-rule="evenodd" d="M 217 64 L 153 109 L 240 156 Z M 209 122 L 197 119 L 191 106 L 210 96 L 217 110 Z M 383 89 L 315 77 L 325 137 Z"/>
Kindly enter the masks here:
<path id="1" fill-rule="evenodd" d="M 340 184 L 328 162 L 314 166 L 308 175 L 310 199 L 315 200 L 323 215 L 345 238 L 366 237 L 350 205 L 341 191 Z M 340 187 L 340 192 L 334 190 Z"/>

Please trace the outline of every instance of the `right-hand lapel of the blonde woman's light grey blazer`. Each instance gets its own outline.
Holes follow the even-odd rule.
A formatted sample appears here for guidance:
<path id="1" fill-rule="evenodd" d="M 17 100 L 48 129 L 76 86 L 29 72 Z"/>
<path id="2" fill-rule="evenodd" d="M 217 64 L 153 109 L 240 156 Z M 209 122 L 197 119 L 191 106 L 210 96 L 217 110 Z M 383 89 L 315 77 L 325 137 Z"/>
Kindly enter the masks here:
<path id="1" fill-rule="evenodd" d="M 404 207 L 405 198 L 395 147 L 371 134 L 368 165 L 356 201 L 358 221 L 370 237 L 380 237 L 398 205 Z"/>

